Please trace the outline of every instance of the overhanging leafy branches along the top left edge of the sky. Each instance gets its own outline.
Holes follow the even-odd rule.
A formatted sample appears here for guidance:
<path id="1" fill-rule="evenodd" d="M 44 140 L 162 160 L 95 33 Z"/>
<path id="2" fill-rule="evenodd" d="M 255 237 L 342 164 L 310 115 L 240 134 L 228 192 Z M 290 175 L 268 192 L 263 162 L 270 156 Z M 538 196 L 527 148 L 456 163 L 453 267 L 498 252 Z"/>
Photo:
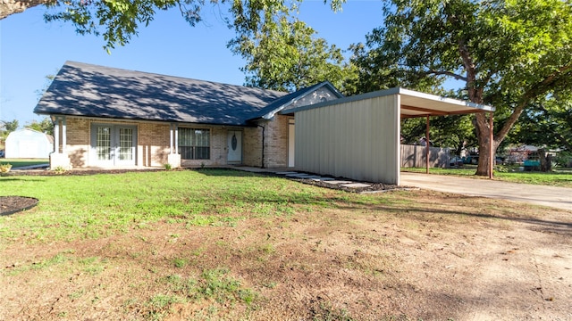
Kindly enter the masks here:
<path id="1" fill-rule="evenodd" d="M 328 0 L 324 0 L 324 4 Z M 332 9 L 337 10 L 345 0 L 332 0 Z M 130 38 L 137 36 L 139 25 L 147 26 L 157 11 L 178 8 L 182 17 L 195 26 L 202 20 L 201 8 L 206 3 L 213 5 L 231 3 L 241 4 L 241 0 L 3 0 L 0 3 L 0 19 L 26 9 L 45 5 L 49 11 L 45 14 L 46 21 L 68 21 L 76 27 L 80 35 L 103 35 L 104 48 L 109 52 L 115 45 L 126 45 Z M 283 1 L 249 0 L 245 3 L 260 10 L 281 7 Z M 240 17 L 241 19 L 244 17 Z M 258 16 L 253 14 L 248 24 L 253 28 L 258 26 Z M 229 19 L 229 23 L 233 21 Z"/>

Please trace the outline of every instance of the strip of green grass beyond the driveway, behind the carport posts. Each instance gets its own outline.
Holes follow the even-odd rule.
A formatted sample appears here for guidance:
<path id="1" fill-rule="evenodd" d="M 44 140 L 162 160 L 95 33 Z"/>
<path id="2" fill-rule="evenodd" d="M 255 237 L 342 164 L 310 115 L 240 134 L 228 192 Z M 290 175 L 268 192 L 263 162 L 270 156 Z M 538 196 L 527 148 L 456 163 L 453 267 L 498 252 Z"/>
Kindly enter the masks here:
<path id="1" fill-rule="evenodd" d="M 505 182 L 533 184 L 533 185 L 550 185 L 572 188 L 572 171 L 554 170 L 550 173 L 519 171 L 517 167 L 505 168 L 507 172 L 494 171 L 494 179 Z M 402 171 L 425 173 L 425 168 L 407 168 Z M 463 169 L 429 169 L 430 174 L 452 175 L 460 177 L 476 177 L 476 166 L 466 166 Z"/>

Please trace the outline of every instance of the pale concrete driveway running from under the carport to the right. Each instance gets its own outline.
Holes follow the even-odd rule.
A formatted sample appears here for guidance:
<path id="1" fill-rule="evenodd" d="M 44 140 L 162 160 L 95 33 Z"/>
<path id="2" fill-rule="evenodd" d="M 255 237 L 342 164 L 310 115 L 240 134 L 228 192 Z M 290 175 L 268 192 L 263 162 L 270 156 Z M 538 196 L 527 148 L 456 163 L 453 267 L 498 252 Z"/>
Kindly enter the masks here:
<path id="1" fill-rule="evenodd" d="M 400 185 L 403 186 L 416 186 L 439 192 L 461 193 L 515 202 L 529 202 L 572 210 L 572 188 L 408 172 L 401 172 L 400 175 Z"/>

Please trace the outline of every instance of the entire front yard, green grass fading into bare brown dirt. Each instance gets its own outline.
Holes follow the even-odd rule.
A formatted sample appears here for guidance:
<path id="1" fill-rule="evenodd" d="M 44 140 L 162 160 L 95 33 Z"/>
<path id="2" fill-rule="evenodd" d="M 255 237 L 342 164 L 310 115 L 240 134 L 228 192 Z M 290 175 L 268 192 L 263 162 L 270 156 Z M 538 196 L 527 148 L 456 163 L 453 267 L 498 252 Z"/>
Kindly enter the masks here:
<path id="1" fill-rule="evenodd" d="M 569 319 L 570 212 L 225 169 L 0 177 L 0 319 Z M 1 204 L 0 204 L 1 206 Z"/>

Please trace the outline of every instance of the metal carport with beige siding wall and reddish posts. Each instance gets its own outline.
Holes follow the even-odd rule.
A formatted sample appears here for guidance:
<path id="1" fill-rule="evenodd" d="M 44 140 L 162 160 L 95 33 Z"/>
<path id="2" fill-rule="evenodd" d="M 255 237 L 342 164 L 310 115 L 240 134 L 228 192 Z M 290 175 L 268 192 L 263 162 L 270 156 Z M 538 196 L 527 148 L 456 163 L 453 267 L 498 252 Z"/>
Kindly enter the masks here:
<path id="1" fill-rule="evenodd" d="M 492 106 L 398 87 L 284 113 L 295 116 L 297 170 L 400 185 L 400 119 L 425 117 L 428 142 L 431 116 L 489 112 L 492 142 L 493 111 Z"/>

